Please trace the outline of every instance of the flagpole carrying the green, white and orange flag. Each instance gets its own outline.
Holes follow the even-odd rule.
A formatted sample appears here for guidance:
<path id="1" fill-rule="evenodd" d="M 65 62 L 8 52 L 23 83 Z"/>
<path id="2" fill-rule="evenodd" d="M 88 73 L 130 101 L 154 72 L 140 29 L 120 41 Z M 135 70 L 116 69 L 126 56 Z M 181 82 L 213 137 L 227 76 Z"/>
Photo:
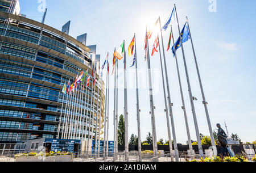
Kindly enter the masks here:
<path id="1" fill-rule="evenodd" d="M 125 47 L 125 40 L 123 40 L 123 47 Z M 125 98 L 125 160 L 129 161 L 129 140 L 128 140 L 128 106 L 127 106 L 127 74 L 126 74 L 126 52 L 124 52 L 124 98 Z"/>

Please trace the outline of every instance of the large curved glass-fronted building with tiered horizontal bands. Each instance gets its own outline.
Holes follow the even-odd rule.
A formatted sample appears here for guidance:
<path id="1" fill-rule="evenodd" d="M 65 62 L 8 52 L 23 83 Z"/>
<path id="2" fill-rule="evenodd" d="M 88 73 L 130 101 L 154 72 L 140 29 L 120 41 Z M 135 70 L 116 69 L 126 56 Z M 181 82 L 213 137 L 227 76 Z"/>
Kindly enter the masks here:
<path id="1" fill-rule="evenodd" d="M 95 47 L 86 47 L 86 35 L 76 40 L 67 33 L 0 9 L 0 142 L 100 138 L 105 99 L 100 57 Z M 63 94 L 81 71 L 88 71 L 89 87 Z"/>

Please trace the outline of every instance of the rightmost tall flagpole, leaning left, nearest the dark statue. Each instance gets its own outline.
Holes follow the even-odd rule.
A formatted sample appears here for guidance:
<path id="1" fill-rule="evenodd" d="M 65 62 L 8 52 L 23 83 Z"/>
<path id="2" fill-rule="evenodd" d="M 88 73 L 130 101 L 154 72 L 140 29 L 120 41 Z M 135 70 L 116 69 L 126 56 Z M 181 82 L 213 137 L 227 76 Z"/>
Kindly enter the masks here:
<path id="1" fill-rule="evenodd" d="M 186 18 L 187 18 L 187 23 L 188 23 L 188 17 L 186 17 Z M 189 31 L 189 34 L 190 34 L 191 45 L 192 45 L 192 49 L 193 49 L 193 55 L 194 55 L 194 58 L 195 58 L 196 70 L 197 70 L 197 75 L 198 75 L 198 79 L 199 79 L 199 83 L 200 83 L 200 88 L 201 88 L 201 93 L 202 93 L 202 97 L 203 97 L 204 109 L 205 109 L 205 113 L 206 113 L 206 116 L 207 116 L 207 123 L 208 123 L 208 126 L 209 126 L 210 139 L 212 141 L 212 146 L 213 146 L 213 154 L 215 156 L 217 156 L 218 153 L 217 153 L 217 149 L 216 149 L 216 144 L 215 144 L 215 140 L 214 140 L 214 136 L 213 136 L 212 125 L 210 123 L 210 117 L 209 117 L 209 112 L 208 112 L 208 108 L 207 108 L 207 104 L 208 103 L 205 100 L 203 84 L 202 84 L 202 81 L 201 81 L 199 67 L 198 67 L 197 60 L 196 60 L 196 53 L 195 53 L 195 48 L 194 48 L 194 45 L 193 45 L 193 40 L 192 40 L 189 24 L 188 24 L 188 31 Z"/>

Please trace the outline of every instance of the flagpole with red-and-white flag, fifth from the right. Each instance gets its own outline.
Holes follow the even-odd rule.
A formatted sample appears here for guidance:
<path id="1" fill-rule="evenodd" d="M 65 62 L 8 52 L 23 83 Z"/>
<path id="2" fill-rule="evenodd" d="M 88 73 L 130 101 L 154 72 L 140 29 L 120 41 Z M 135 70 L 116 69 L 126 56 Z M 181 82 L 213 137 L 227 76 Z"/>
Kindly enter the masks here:
<path id="1" fill-rule="evenodd" d="M 159 36 L 158 36 L 158 44 L 160 45 L 160 43 L 159 43 Z M 163 51 L 164 51 L 164 49 L 163 49 Z M 164 112 L 166 112 L 167 130 L 168 130 L 169 147 L 170 147 L 170 157 L 171 157 L 171 161 L 173 162 L 174 161 L 174 156 L 172 155 L 173 154 L 172 138 L 171 138 L 171 129 L 170 129 L 168 106 L 167 106 L 167 101 L 166 101 L 166 84 L 165 84 L 165 81 L 164 81 L 163 62 L 162 62 L 162 54 L 161 54 L 160 46 L 159 46 L 159 57 L 160 57 L 160 65 L 161 65 L 161 71 L 162 71 L 163 92 L 164 92 L 164 106 L 166 107 L 164 109 Z"/>

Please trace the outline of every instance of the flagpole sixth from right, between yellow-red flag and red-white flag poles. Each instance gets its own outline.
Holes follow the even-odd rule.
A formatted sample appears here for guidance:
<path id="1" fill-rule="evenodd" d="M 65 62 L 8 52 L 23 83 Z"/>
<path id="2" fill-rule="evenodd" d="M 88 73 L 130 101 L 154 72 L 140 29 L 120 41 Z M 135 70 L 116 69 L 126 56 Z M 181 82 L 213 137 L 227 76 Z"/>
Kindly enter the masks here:
<path id="1" fill-rule="evenodd" d="M 147 28 L 146 28 L 147 33 Z M 148 84 L 149 84 L 149 92 L 150 92 L 150 106 L 151 106 L 151 123 L 152 123 L 152 137 L 153 137 L 153 147 L 155 157 L 158 155 L 158 146 L 156 142 L 156 129 L 155 129 L 155 107 L 154 107 L 154 99 L 153 99 L 153 89 L 152 89 L 152 79 L 151 79 L 151 66 L 150 66 L 150 54 L 148 48 L 148 38 L 147 38 L 147 68 L 148 68 Z"/>

